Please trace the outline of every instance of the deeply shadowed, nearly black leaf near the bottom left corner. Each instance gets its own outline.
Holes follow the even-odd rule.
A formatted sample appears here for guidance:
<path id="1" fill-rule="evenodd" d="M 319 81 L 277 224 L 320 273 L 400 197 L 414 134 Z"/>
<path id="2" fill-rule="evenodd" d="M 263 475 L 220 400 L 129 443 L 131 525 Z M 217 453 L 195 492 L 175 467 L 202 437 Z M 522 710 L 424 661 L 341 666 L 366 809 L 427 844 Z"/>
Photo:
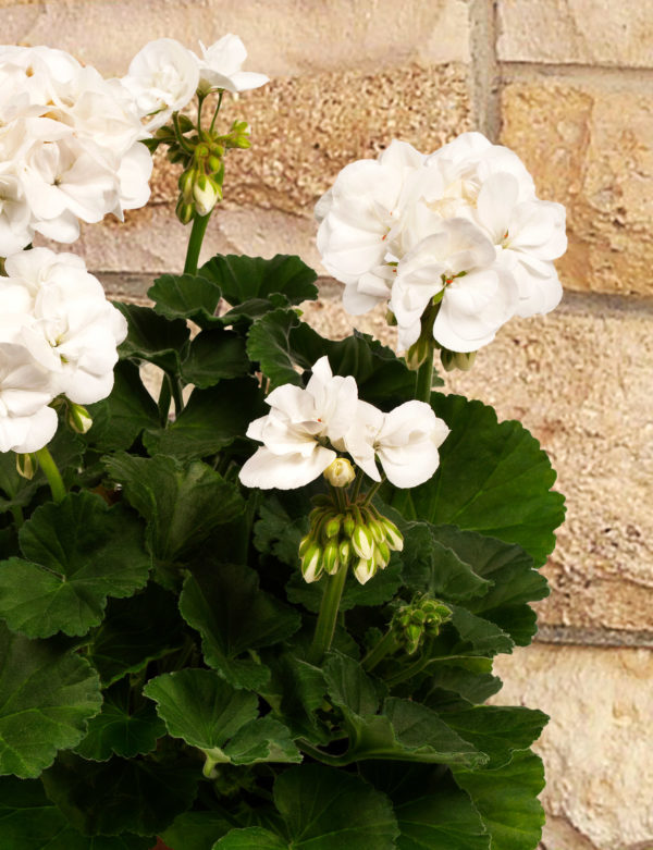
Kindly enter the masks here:
<path id="1" fill-rule="evenodd" d="M 157 835 L 193 803 L 199 772 L 182 759 L 87 762 L 72 753 L 42 775 L 46 793 L 85 835 Z"/>

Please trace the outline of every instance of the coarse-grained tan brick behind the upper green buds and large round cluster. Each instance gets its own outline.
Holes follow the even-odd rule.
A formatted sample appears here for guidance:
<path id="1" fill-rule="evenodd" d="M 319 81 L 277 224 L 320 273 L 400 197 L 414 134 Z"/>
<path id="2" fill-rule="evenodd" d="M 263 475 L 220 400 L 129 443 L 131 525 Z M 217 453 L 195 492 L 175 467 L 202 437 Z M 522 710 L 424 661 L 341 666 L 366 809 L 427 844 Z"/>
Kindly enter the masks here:
<path id="1" fill-rule="evenodd" d="M 432 151 L 471 127 L 461 65 L 276 79 L 237 101 L 225 98 L 219 126 L 236 118 L 251 125 L 252 147 L 229 153 L 226 205 L 308 214 L 342 168 L 375 157 L 393 138 Z M 155 200 L 176 198 L 177 175 L 178 167 L 157 157 Z"/>

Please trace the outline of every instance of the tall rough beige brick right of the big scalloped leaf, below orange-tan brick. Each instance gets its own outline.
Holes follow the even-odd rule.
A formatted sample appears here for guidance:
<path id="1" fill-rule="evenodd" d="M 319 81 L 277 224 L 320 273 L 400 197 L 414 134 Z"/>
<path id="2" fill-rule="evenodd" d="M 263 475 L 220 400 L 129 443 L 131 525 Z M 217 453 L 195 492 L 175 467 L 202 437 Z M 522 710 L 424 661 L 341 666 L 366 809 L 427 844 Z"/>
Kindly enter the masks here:
<path id="1" fill-rule="evenodd" d="M 336 284 L 323 291 L 329 300 L 305 305 L 305 318 L 324 335 L 356 324 L 393 344 L 382 307 L 348 317 Z M 514 319 L 470 372 L 445 374 L 447 391 L 521 421 L 557 469 L 567 520 L 545 567 L 543 623 L 651 629 L 652 340 L 650 312 L 577 297 L 547 317 Z"/>

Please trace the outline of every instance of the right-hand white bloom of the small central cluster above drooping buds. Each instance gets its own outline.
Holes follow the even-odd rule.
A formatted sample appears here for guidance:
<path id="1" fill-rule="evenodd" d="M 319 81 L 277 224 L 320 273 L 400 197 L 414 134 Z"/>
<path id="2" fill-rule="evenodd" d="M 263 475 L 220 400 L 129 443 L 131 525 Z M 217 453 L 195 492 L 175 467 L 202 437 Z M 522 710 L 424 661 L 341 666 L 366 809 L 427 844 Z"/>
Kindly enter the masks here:
<path id="1" fill-rule="evenodd" d="M 398 488 L 428 481 L 440 465 L 439 446 L 449 429 L 424 402 L 406 402 L 383 414 L 359 402 L 356 418 L 344 443 L 354 461 L 374 481 L 380 481 L 375 458 L 387 480 Z"/>

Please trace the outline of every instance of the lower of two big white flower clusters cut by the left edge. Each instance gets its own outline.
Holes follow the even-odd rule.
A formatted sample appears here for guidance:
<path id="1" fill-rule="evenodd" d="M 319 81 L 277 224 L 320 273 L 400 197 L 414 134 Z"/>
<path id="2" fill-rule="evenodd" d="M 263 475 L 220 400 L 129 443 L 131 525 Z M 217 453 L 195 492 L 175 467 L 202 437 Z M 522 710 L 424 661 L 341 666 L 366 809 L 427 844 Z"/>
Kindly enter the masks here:
<path id="1" fill-rule="evenodd" d="M 111 392 L 127 324 L 73 254 L 19 251 L 0 278 L 0 452 L 36 452 L 54 435 L 59 395 Z"/>

